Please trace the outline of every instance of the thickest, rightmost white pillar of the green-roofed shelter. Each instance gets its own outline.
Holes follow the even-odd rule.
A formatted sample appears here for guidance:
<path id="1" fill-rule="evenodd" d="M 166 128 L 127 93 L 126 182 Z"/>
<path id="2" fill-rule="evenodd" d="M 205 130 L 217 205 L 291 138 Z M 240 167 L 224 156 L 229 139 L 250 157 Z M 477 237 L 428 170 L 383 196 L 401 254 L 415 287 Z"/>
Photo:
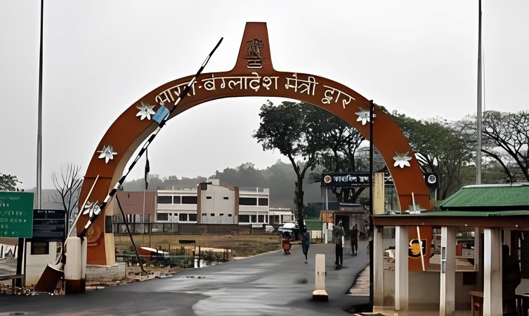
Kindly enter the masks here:
<path id="1" fill-rule="evenodd" d="M 503 315 L 502 234 L 483 230 L 483 316 Z"/>

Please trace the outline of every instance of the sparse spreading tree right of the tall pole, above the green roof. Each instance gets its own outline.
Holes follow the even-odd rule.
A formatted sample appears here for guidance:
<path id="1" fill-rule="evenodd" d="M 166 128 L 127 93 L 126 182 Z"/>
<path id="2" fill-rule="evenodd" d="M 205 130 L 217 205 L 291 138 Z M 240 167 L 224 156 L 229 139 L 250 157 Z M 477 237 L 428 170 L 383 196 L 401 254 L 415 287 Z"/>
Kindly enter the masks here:
<path id="1" fill-rule="evenodd" d="M 528 145 L 529 111 L 483 113 L 481 151 L 501 164 L 510 183 L 529 181 Z"/>

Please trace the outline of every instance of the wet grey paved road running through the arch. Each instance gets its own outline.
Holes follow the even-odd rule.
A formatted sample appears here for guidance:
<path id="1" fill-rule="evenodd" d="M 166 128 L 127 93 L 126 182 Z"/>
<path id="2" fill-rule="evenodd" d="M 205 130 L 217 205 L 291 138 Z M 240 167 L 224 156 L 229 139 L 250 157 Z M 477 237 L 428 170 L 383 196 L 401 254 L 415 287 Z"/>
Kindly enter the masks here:
<path id="1" fill-rule="evenodd" d="M 358 256 L 344 255 L 334 265 L 334 244 L 311 244 L 308 262 L 301 245 L 231 261 L 172 277 L 107 287 L 69 296 L 0 296 L 0 315 L 350 315 L 353 305 L 369 302 L 351 296 L 355 277 L 369 264 L 367 242 Z M 315 254 L 325 254 L 328 302 L 312 300 Z"/>

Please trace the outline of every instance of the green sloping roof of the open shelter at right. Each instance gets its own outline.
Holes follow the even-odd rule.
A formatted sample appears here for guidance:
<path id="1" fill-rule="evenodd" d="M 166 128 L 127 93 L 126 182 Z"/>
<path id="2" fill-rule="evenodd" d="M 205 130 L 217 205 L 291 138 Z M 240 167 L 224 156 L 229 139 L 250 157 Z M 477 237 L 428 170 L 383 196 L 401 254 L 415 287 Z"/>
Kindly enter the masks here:
<path id="1" fill-rule="evenodd" d="M 467 185 L 440 202 L 439 207 L 441 211 L 529 210 L 529 183 Z"/>

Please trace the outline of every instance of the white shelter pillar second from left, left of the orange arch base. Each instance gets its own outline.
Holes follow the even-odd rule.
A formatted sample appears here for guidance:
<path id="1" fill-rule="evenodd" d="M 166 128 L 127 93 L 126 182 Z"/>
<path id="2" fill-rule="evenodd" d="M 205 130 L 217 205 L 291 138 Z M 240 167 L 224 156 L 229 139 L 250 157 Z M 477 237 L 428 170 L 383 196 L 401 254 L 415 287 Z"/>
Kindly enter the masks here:
<path id="1" fill-rule="evenodd" d="M 408 237 L 406 226 L 395 227 L 395 310 L 408 308 Z"/>

